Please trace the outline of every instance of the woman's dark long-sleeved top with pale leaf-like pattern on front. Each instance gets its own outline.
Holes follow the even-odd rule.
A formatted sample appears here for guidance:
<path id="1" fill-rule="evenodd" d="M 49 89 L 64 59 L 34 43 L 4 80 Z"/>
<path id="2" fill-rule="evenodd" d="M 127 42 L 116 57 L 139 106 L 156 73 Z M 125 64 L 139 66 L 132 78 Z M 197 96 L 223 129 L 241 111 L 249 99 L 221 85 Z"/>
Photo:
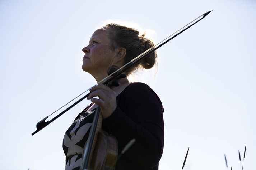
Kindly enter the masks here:
<path id="1" fill-rule="evenodd" d="M 133 138 L 136 142 L 117 161 L 115 170 L 158 170 L 164 145 L 163 106 L 144 83 L 131 83 L 117 97 L 117 108 L 103 120 L 102 128 L 116 137 L 118 154 Z M 89 105 L 66 131 L 63 149 L 66 170 L 79 169 L 93 112 Z"/>

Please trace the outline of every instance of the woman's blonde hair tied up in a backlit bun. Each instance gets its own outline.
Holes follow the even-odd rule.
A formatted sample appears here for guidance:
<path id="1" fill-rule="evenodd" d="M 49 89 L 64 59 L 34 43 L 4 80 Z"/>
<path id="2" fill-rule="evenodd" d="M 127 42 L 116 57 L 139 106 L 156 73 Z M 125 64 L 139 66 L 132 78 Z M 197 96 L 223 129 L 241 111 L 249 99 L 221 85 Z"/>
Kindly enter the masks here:
<path id="1" fill-rule="evenodd" d="M 126 49 L 123 64 L 130 62 L 132 59 L 154 46 L 152 40 L 145 37 L 145 33 L 140 35 L 139 31 L 134 28 L 110 23 L 102 26 L 100 30 L 107 31 L 107 36 L 110 39 L 110 47 L 113 51 L 117 48 Z M 141 60 L 140 63 L 135 64 L 134 67 L 128 69 L 126 73 L 130 74 L 140 66 L 145 69 L 152 68 L 156 63 L 156 57 L 156 52 L 149 54 L 148 57 Z"/>

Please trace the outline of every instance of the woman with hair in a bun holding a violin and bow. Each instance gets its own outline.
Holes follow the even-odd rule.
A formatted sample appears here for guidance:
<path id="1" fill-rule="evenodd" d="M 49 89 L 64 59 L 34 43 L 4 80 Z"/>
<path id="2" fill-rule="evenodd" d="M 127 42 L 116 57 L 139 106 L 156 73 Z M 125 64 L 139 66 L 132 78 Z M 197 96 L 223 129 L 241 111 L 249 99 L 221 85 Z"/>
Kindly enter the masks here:
<path id="1" fill-rule="evenodd" d="M 107 76 L 108 67 L 121 67 L 153 45 L 135 29 L 107 24 L 96 30 L 89 45 L 83 48 L 82 68 L 99 82 Z M 152 68 L 156 57 L 153 52 L 125 74 L 140 67 Z M 90 92 L 88 99 L 92 104 L 79 113 L 64 136 L 66 170 L 79 170 L 81 166 L 83 147 L 97 106 L 103 116 L 102 128 L 116 137 L 119 154 L 131 139 L 136 139 L 118 159 L 115 169 L 157 170 L 164 142 L 163 106 L 157 94 L 148 85 L 131 83 L 127 78 L 121 79 L 118 87 L 99 84 Z"/>

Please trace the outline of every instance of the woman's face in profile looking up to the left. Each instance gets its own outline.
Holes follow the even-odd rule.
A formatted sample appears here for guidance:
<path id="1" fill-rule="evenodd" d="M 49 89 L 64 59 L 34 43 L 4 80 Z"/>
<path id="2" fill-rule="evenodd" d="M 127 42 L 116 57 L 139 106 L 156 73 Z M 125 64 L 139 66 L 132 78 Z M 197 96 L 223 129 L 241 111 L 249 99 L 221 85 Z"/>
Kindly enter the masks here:
<path id="1" fill-rule="evenodd" d="M 94 76 L 107 73 L 115 52 L 111 50 L 110 39 L 106 30 L 96 30 L 90 38 L 89 45 L 83 48 L 82 69 Z"/>

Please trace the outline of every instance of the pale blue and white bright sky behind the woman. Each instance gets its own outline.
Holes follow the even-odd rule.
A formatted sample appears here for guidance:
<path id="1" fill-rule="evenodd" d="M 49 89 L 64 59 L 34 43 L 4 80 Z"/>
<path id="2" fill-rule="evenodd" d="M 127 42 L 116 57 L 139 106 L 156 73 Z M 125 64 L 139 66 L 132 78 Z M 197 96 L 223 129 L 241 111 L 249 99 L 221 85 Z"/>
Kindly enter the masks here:
<path id="1" fill-rule="evenodd" d="M 138 76 L 164 105 L 160 170 L 256 169 L 256 3 L 215 1 L 0 1 L 0 169 L 64 169 L 62 139 L 83 101 L 34 136 L 36 123 L 93 86 L 82 48 L 107 19 L 132 21 L 156 42 L 213 10 L 158 50 L 159 69 Z M 154 80 L 154 81 L 153 81 Z"/>

